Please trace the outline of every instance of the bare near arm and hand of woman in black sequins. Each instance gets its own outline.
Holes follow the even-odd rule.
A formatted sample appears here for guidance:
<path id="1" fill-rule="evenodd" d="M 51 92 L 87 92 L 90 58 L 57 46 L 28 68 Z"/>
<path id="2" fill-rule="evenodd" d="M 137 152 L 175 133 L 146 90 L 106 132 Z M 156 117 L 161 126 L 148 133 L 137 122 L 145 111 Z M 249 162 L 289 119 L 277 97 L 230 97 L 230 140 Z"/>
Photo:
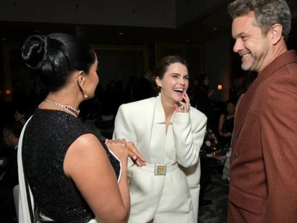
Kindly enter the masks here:
<path id="1" fill-rule="evenodd" d="M 119 184 L 103 146 L 93 134 L 81 135 L 70 145 L 64 159 L 64 172 L 74 181 L 100 222 L 127 222 L 130 211 L 127 144 L 117 140 L 111 141 L 108 147 L 113 148 L 121 161 Z"/>

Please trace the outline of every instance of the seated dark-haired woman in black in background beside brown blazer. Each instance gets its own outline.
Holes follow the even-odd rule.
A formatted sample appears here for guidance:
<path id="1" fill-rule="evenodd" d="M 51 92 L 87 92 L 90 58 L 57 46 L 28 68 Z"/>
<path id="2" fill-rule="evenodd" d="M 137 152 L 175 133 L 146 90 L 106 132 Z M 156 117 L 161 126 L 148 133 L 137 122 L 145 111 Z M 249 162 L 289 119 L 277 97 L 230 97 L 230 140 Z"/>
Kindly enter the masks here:
<path id="1" fill-rule="evenodd" d="M 236 102 L 233 99 L 227 101 L 227 112 L 219 118 L 219 141 L 225 147 L 230 147 L 234 127 L 234 114 Z"/>

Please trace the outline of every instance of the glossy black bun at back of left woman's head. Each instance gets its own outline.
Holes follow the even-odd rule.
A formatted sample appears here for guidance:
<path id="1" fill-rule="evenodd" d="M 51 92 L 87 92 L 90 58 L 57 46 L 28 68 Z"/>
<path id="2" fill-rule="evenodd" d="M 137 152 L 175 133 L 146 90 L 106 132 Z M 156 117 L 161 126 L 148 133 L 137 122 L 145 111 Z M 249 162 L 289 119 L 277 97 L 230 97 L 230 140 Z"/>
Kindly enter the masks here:
<path id="1" fill-rule="evenodd" d="M 31 69 L 40 69 L 48 57 L 48 36 L 31 36 L 20 49 L 21 58 Z"/>

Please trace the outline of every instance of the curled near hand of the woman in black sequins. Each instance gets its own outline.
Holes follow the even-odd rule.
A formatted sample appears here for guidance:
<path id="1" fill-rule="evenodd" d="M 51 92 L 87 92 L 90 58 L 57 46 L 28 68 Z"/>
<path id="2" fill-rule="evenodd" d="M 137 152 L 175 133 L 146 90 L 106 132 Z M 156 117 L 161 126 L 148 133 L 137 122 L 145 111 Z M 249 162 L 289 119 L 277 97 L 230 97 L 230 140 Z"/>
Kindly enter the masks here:
<path id="1" fill-rule="evenodd" d="M 105 145 L 118 157 L 119 160 L 127 160 L 129 148 L 125 139 L 105 140 Z"/>

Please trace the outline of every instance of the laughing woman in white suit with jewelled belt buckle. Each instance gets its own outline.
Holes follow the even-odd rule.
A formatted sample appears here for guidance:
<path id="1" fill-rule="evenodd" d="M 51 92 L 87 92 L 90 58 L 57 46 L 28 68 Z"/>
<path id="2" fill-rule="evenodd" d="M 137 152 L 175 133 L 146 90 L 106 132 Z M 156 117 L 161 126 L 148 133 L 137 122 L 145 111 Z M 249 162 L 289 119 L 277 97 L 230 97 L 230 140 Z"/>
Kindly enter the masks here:
<path id="1" fill-rule="evenodd" d="M 132 141 L 146 159 L 128 161 L 130 223 L 198 221 L 199 151 L 206 116 L 190 107 L 187 64 L 163 58 L 155 68 L 157 97 L 119 107 L 113 138 Z"/>

